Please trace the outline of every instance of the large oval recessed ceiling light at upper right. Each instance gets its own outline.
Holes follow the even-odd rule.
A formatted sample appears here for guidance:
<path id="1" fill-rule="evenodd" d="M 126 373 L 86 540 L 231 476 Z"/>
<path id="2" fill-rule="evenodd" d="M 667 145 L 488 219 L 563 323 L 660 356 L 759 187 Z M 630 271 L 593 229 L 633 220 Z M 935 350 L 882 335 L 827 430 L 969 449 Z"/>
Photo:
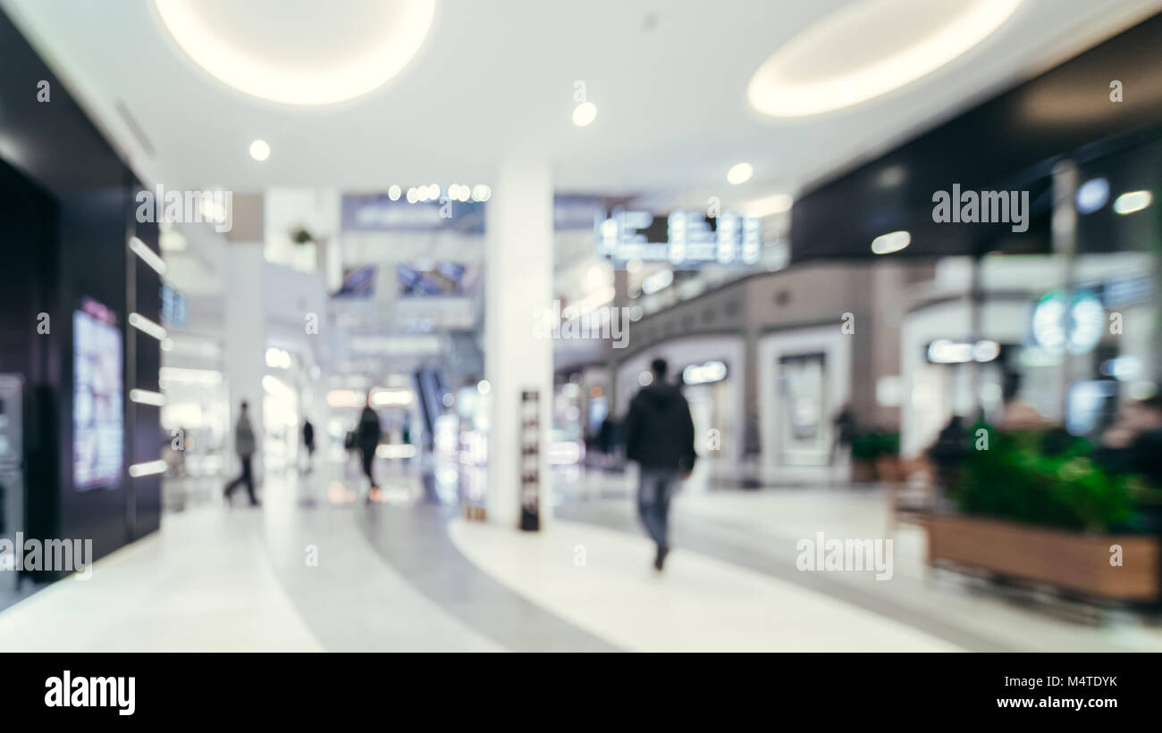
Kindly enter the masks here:
<path id="1" fill-rule="evenodd" d="M 859 104 L 916 81 L 981 43 L 1020 0 L 868 0 L 832 13 L 768 58 L 747 87 L 772 117 Z"/>

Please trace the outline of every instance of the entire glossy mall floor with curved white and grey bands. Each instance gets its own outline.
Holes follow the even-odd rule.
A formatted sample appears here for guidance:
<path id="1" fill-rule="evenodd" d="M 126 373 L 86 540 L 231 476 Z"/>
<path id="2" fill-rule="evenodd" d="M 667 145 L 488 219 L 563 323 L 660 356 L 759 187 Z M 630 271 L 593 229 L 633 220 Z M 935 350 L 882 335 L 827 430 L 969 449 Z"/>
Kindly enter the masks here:
<path id="1" fill-rule="evenodd" d="M 891 536 L 891 580 L 799 572 L 818 531 L 884 537 L 882 493 L 739 491 L 711 469 L 674 502 L 661 574 L 632 472 L 558 474 L 539 535 L 462 518 L 480 469 L 383 462 L 365 506 L 354 466 L 321 466 L 268 477 L 258 510 L 227 509 L 217 479 L 168 481 L 162 531 L 0 612 L 0 651 L 1162 651 L 1134 615 L 1062 616 L 931 573 L 914 528 Z"/>

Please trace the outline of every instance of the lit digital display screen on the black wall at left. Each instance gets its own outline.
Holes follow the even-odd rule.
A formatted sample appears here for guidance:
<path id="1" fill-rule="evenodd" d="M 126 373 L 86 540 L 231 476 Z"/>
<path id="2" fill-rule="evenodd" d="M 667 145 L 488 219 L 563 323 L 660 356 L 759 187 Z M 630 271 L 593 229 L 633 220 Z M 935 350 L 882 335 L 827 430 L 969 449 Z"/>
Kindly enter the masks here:
<path id="1" fill-rule="evenodd" d="M 124 452 L 121 331 L 102 305 L 73 312 L 73 486 L 121 484 Z"/>

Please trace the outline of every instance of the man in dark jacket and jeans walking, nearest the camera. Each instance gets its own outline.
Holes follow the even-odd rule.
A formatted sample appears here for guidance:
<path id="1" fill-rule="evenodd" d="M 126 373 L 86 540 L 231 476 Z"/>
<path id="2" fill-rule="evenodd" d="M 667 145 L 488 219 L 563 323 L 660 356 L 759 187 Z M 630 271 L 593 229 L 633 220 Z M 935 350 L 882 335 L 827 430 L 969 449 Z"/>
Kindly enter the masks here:
<path id="1" fill-rule="evenodd" d="M 654 567 L 669 553 L 669 498 L 679 478 L 689 478 L 694 462 L 694 420 L 690 406 L 676 386 L 666 384 L 666 361 L 650 364 L 653 382 L 643 387 L 625 416 L 625 457 L 636 460 L 638 513 L 650 537 L 658 543 Z"/>

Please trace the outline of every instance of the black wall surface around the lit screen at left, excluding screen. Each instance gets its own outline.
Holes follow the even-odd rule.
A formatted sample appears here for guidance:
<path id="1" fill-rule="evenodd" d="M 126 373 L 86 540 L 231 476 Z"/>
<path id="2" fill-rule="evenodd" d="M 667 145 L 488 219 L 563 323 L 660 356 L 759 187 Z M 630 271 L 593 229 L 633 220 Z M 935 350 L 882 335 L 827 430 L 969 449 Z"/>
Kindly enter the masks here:
<path id="1" fill-rule="evenodd" d="M 158 389 L 160 344 L 128 325 L 134 311 L 160 322 L 160 277 L 128 249 L 131 235 L 158 251 L 156 225 L 138 225 L 132 172 L 65 86 L 0 14 L 0 370 L 29 385 L 27 528 L 92 538 L 105 556 L 157 529 L 160 479 L 88 491 L 73 486 L 73 325 L 84 298 L 109 309 L 122 332 L 123 464 L 160 455 L 158 408 L 129 401 Z M 41 80 L 50 100 L 37 100 Z M 36 333 L 48 312 L 51 333 Z"/>

